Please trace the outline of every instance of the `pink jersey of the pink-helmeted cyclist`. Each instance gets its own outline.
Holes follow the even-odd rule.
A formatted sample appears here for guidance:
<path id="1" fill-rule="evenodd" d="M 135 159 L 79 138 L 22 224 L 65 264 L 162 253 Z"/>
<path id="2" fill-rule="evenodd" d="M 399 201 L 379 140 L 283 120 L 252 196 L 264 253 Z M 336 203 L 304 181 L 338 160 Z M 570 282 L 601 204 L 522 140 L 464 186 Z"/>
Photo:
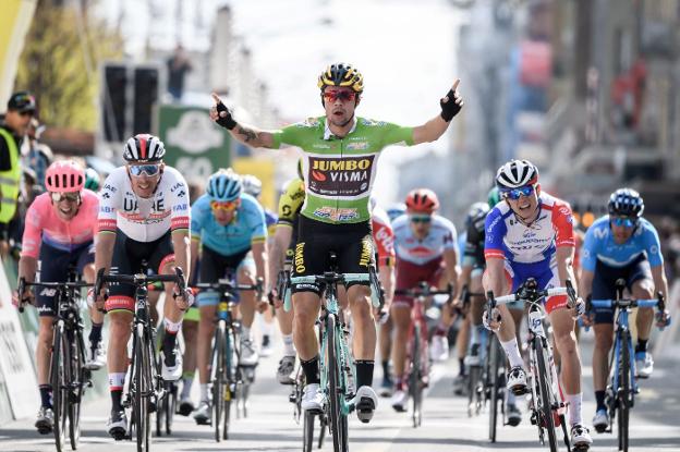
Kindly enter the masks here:
<path id="1" fill-rule="evenodd" d="M 54 212 L 49 193 L 36 197 L 26 212 L 22 256 L 37 259 L 41 243 L 63 252 L 72 252 L 92 242 L 97 230 L 99 199 L 89 190 L 83 190 L 81 198 L 82 204 L 75 217 L 71 221 L 64 221 Z"/>

